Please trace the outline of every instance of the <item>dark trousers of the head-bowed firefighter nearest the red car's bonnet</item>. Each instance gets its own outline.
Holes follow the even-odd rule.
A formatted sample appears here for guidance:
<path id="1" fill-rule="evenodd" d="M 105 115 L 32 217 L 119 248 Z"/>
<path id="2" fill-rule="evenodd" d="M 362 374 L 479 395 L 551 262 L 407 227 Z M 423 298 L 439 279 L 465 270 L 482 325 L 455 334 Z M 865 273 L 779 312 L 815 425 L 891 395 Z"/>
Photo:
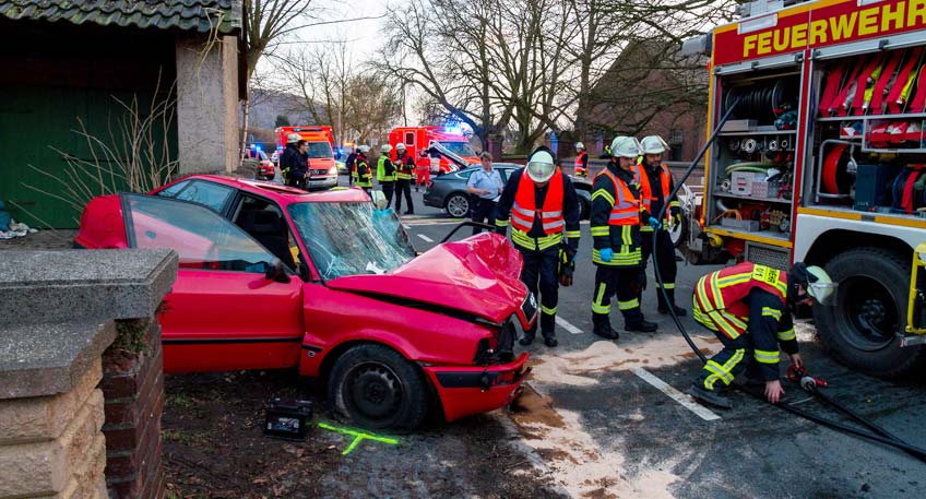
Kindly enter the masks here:
<path id="1" fill-rule="evenodd" d="M 524 258 L 524 269 L 521 281 L 527 290 L 537 296 L 541 302 L 541 332 L 544 337 L 556 337 L 556 306 L 559 302 L 559 281 L 556 278 L 556 265 L 559 258 L 559 246 L 543 251 L 521 251 Z M 524 336 L 533 338 L 537 334 L 537 322 L 524 331 Z"/>

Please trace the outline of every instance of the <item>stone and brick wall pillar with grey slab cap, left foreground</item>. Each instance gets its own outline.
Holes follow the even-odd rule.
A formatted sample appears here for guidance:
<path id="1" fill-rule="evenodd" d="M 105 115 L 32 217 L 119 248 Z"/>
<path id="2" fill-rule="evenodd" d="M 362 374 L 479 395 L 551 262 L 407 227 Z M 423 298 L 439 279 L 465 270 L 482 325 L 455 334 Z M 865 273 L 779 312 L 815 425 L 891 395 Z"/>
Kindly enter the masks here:
<path id="1" fill-rule="evenodd" d="M 4 253 L 0 498 L 163 496 L 164 390 L 154 314 L 176 275 L 169 250 Z M 129 372 L 144 384 L 111 396 L 114 380 Z M 144 435 L 122 437 L 124 454 L 107 453 L 120 430 L 131 436 L 136 428 Z M 124 490 L 112 480 L 107 490 L 110 468 L 124 455 L 134 468 L 115 478 L 141 478 Z"/>

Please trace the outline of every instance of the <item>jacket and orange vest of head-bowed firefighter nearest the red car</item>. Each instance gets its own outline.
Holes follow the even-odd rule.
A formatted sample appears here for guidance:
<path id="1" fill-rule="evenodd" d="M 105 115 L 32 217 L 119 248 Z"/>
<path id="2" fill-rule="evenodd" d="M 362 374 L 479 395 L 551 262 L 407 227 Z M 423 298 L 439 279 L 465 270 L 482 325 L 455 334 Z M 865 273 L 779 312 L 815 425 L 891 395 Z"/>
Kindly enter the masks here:
<path id="1" fill-rule="evenodd" d="M 563 236 L 578 250 L 580 215 L 575 188 L 562 170 L 557 168 L 545 187 L 537 187 L 522 168 L 508 177 L 495 225 L 504 235 L 510 224 L 511 241 L 521 251 L 544 251 L 562 243 Z"/>

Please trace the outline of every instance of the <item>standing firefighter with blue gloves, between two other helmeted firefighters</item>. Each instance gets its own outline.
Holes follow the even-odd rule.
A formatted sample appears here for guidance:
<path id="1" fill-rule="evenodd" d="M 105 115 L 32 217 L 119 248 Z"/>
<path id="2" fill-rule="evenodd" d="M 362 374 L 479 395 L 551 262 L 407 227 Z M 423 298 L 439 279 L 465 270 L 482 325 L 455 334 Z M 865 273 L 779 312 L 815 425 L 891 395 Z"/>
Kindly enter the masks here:
<path id="1" fill-rule="evenodd" d="M 617 295 L 625 331 L 656 331 L 656 324 L 644 319 L 636 289 L 642 257 L 640 222 L 657 221 L 641 203 L 639 179 L 634 174 L 640 143 L 632 136 L 618 136 L 612 142 L 610 151 L 610 161 L 592 182 L 592 263 L 597 266 L 592 296 L 592 331 L 598 336 L 617 340 L 620 334 L 612 328 L 608 317 L 613 295 Z"/>

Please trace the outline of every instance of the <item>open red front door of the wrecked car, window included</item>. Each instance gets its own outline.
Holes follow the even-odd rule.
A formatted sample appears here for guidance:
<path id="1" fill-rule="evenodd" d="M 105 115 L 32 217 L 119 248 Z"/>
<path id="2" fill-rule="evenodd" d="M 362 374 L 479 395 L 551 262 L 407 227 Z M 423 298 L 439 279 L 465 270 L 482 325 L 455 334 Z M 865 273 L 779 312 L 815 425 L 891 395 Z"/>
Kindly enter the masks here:
<path id="1" fill-rule="evenodd" d="M 180 269 L 158 316 L 168 372 L 273 369 L 298 363 L 302 282 L 241 228 L 191 202 L 122 194 L 131 248 L 170 248 Z M 288 282 L 286 282 L 288 281 Z"/>

